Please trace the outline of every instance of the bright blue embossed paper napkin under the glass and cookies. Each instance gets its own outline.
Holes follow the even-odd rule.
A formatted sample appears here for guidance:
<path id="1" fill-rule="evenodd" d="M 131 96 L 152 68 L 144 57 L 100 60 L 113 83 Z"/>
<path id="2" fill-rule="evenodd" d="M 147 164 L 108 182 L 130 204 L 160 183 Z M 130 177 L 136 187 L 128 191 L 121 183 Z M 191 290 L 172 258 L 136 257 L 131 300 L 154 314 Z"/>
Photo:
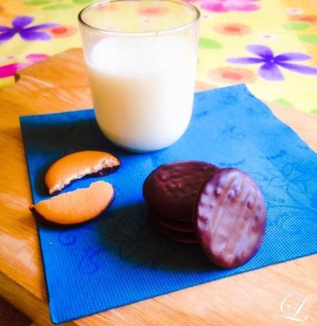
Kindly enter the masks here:
<path id="1" fill-rule="evenodd" d="M 93 110 L 21 116 L 21 129 L 34 203 L 48 198 L 45 171 L 65 154 L 105 150 L 122 162 L 119 171 L 100 178 L 116 189 L 100 218 L 70 228 L 38 223 L 53 323 L 317 252 L 317 155 L 245 85 L 195 94 L 184 136 L 148 154 L 125 152 L 105 139 Z M 238 167 L 258 182 L 267 232 L 245 265 L 215 267 L 198 245 L 167 241 L 147 223 L 143 181 L 159 165 L 180 160 Z"/>

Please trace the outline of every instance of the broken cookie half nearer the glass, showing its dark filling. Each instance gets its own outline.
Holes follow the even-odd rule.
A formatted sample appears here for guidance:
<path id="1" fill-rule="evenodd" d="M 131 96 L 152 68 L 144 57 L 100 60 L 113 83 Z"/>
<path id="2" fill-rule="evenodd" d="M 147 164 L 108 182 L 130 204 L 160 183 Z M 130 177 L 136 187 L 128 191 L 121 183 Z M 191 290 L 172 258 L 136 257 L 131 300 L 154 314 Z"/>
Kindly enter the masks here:
<path id="1" fill-rule="evenodd" d="M 120 167 L 120 161 L 107 152 L 85 150 L 63 156 L 45 174 L 49 194 L 60 192 L 83 176 L 105 176 Z"/>

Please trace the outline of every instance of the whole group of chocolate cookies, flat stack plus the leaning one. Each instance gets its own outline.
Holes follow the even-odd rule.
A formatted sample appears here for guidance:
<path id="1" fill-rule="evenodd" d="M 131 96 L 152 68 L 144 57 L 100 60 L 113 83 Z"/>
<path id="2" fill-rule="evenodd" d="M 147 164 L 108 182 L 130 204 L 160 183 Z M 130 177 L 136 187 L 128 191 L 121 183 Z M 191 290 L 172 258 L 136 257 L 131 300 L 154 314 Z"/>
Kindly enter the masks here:
<path id="1" fill-rule="evenodd" d="M 143 196 L 157 232 L 198 243 L 218 266 L 242 265 L 263 241 L 263 194 L 251 176 L 234 167 L 201 161 L 161 165 L 145 180 Z"/>

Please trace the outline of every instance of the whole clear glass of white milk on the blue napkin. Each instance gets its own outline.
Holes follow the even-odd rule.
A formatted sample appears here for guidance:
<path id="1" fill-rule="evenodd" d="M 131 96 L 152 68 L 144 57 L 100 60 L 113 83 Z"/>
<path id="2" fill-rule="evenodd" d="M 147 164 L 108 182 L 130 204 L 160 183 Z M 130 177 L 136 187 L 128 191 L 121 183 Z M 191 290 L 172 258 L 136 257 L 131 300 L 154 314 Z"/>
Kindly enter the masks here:
<path id="1" fill-rule="evenodd" d="M 192 116 L 199 12 L 177 0 L 113 0 L 79 13 L 96 121 L 134 152 L 176 142 Z"/>

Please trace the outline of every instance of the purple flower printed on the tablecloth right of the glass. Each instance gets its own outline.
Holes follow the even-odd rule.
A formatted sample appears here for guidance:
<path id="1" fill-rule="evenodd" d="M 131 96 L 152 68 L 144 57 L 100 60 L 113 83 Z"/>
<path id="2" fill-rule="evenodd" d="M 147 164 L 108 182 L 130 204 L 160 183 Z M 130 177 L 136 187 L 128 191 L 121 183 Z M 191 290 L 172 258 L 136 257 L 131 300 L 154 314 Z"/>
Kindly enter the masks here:
<path id="1" fill-rule="evenodd" d="M 284 79 L 279 68 L 285 68 L 300 74 L 317 75 L 317 68 L 308 67 L 307 65 L 298 65 L 297 63 L 289 63 L 289 61 L 305 61 L 311 59 L 307 54 L 287 52 L 274 56 L 272 50 L 265 45 L 248 45 L 246 49 L 256 54 L 257 57 L 230 58 L 227 59 L 227 61 L 230 63 L 240 63 L 242 65 L 262 63 L 258 69 L 258 74 L 268 81 L 281 81 Z"/>

